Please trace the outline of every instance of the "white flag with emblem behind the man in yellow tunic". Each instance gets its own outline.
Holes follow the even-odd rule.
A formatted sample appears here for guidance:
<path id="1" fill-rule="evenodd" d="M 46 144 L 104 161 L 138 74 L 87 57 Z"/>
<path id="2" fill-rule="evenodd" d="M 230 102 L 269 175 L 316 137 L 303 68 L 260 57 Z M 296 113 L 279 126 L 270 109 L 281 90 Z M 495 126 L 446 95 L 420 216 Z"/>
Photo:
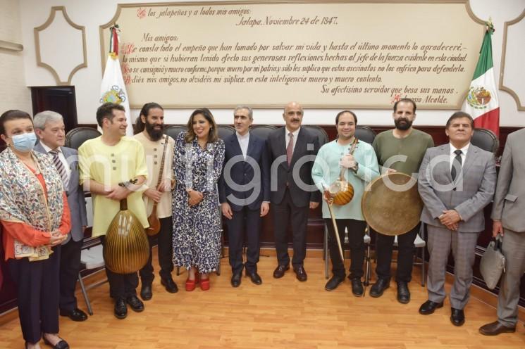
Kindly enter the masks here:
<path id="1" fill-rule="evenodd" d="M 128 119 L 126 135 L 132 136 L 133 123 L 131 122 L 130 101 L 128 99 L 128 93 L 125 90 L 121 62 L 118 61 L 118 25 L 115 25 L 109 29 L 111 30 L 111 37 L 109 39 L 109 55 L 108 61 L 106 61 L 104 77 L 102 77 L 102 83 L 100 86 L 99 103 L 103 104 L 111 102 L 122 104 L 125 109 L 126 119 Z M 102 132 L 100 127 L 99 132 Z"/>

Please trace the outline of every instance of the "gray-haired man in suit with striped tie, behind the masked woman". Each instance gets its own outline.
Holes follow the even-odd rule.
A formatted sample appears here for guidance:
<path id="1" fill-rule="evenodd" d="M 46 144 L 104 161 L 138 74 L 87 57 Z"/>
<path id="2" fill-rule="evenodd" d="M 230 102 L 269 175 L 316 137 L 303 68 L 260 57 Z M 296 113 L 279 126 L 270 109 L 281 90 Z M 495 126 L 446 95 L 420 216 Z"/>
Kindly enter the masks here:
<path id="1" fill-rule="evenodd" d="M 46 110 L 35 115 L 33 122 L 39 138 L 35 151 L 49 154 L 53 160 L 62 177 L 71 212 L 71 232 L 62 243 L 60 257 L 60 315 L 73 321 L 85 321 L 87 315 L 78 309 L 75 298 L 82 239 L 87 226 L 84 191 L 78 180 L 78 153 L 63 146 L 66 134 L 62 115 Z"/>

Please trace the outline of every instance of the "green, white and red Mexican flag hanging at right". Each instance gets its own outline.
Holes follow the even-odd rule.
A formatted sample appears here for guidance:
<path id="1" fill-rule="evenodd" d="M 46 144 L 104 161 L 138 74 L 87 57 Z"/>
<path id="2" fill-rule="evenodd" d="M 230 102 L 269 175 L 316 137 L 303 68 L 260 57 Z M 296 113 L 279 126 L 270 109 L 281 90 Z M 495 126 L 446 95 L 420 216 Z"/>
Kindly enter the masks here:
<path id="1" fill-rule="evenodd" d="M 465 111 L 474 118 L 474 126 L 490 129 L 496 136 L 500 134 L 500 103 L 496 81 L 494 78 L 494 65 L 492 61 L 492 40 L 490 35 L 494 32 L 492 23 L 488 23 L 479 61 L 470 83 L 469 94 Z"/>

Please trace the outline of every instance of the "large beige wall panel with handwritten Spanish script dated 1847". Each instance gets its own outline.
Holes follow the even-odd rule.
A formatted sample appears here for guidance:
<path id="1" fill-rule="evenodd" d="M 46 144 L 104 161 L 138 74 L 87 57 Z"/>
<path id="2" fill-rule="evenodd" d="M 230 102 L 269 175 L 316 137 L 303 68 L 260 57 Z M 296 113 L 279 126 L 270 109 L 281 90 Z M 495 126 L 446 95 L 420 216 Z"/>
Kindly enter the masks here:
<path id="1" fill-rule="evenodd" d="M 166 108 L 461 106 L 483 25 L 467 1 L 120 4 L 130 104 Z"/>

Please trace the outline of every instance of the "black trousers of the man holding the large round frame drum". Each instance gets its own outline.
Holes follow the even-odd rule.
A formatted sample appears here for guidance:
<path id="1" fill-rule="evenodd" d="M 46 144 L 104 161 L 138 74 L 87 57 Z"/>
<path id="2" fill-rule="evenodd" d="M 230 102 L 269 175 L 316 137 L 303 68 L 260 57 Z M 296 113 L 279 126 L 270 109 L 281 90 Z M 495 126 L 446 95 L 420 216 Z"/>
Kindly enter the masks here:
<path id="1" fill-rule="evenodd" d="M 397 272 L 395 281 L 410 282 L 412 279 L 412 265 L 414 264 L 414 240 L 419 231 L 419 226 L 405 234 L 397 236 Z M 395 236 L 383 235 L 377 233 L 376 238 L 376 255 L 377 267 L 376 274 L 380 279 L 390 280 L 390 263 L 392 262 L 392 250 Z"/>

